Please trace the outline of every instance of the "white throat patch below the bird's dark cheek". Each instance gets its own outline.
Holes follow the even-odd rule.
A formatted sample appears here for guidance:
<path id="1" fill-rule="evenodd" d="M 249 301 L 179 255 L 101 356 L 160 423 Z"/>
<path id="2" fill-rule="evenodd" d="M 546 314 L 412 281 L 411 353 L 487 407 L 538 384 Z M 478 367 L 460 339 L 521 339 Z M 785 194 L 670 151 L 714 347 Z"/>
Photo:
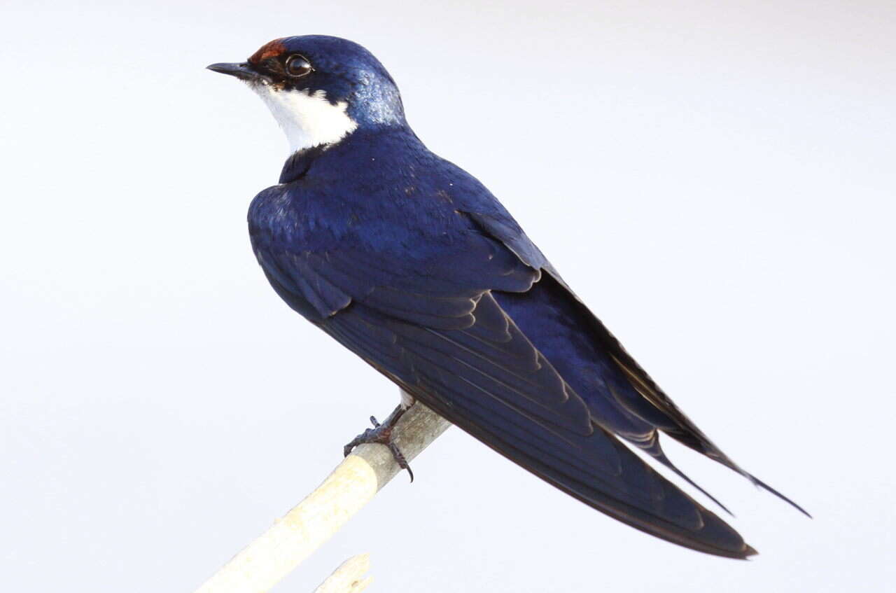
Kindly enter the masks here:
<path id="1" fill-rule="evenodd" d="M 290 152 L 339 142 L 358 127 L 346 113 L 349 104 L 333 105 L 323 90 L 314 93 L 276 90 L 266 83 L 249 86 L 271 109 L 274 119 L 286 133 Z"/>

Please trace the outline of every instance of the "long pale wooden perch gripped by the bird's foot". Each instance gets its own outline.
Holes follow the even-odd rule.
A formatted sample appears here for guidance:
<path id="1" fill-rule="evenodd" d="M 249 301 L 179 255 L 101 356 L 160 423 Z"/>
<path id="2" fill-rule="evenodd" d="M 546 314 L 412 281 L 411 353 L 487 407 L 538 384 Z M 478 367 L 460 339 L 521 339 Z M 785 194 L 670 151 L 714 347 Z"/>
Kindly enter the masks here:
<path id="1" fill-rule="evenodd" d="M 450 424 L 419 402 L 392 431 L 392 440 L 413 460 Z M 246 546 L 196 593 L 264 593 L 330 539 L 399 472 L 392 452 L 362 444 L 301 503 Z"/>

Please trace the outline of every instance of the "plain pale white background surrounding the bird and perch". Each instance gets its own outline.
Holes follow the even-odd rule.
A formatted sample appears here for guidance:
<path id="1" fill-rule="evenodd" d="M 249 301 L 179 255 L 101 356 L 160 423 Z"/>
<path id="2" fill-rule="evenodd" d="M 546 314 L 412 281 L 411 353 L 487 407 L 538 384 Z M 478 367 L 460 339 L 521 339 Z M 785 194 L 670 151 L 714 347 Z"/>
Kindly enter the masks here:
<path id="1" fill-rule="evenodd" d="M 396 390 L 280 303 L 246 236 L 286 142 L 206 64 L 327 33 L 513 211 L 735 460 L 761 554 L 645 536 L 452 429 L 278 591 L 883 591 L 892 563 L 892 2 L 4 0 L 0 583 L 190 591 Z"/>

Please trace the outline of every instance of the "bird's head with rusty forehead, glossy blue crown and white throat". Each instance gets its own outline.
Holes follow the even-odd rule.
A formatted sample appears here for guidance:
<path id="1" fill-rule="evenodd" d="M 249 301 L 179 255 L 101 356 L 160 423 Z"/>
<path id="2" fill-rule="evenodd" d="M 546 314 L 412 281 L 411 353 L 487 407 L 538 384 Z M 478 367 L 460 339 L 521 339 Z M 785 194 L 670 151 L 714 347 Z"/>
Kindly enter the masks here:
<path id="1" fill-rule="evenodd" d="M 248 83 L 271 109 L 292 152 L 340 142 L 358 129 L 405 125 L 392 76 L 348 39 L 274 39 L 246 62 L 208 68 Z"/>

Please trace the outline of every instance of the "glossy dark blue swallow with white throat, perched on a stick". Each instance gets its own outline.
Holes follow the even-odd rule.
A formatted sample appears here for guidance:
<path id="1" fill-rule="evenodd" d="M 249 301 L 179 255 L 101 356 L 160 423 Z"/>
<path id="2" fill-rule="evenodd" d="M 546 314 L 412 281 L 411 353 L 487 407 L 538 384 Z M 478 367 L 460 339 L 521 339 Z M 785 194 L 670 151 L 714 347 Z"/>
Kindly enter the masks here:
<path id="1" fill-rule="evenodd" d="M 426 149 L 364 47 L 275 39 L 209 69 L 247 82 L 289 138 L 280 183 L 248 216 L 271 286 L 401 388 L 390 419 L 347 451 L 385 443 L 406 468 L 390 432 L 420 400 L 636 529 L 709 554 L 755 554 L 625 443 L 687 479 L 660 447 L 665 433 L 778 493 L 676 407 L 485 186 Z"/>

